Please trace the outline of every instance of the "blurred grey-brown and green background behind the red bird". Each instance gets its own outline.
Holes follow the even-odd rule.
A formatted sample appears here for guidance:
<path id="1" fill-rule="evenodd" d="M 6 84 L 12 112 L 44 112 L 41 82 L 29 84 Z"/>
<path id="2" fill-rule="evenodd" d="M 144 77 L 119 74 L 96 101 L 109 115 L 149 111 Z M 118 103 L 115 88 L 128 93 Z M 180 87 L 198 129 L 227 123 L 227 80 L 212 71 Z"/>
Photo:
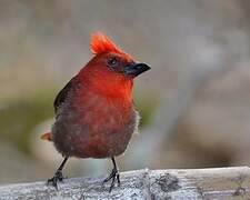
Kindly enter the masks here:
<path id="1" fill-rule="evenodd" d="M 122 171 L 250 164 L 249 21 L 249 0 L 0 0 L 0 184 L 53 176 L 62 158 L 39 138 L 97 30 L 152 67 L 136 81 L 142 120 Z M 64 172 L 111 167 L 71 159 Z"/>

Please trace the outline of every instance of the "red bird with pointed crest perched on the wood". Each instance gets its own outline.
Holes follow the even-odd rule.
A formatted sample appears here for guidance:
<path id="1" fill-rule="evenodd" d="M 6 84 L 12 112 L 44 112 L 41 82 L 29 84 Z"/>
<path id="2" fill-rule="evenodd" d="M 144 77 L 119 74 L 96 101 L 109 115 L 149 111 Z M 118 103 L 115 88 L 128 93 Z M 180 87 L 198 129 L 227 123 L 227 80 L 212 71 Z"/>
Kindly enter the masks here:
<path id="1" fill-rule="evenodd" d="M 48 180 L 57 188 L 62 168 L 70 157 L 111 158 L 113 169 L 104 182 L 120 177 L 114 157 L 123 153 L 138 129 L 139 114 L 132 100 L 133 79 L 150 69 L 136 62 L 101 32 L 91 36 L 94 57 L 58 93 L 56 122 L 41 139 L 52 141 L 63 156 L 54 176 Z"/>

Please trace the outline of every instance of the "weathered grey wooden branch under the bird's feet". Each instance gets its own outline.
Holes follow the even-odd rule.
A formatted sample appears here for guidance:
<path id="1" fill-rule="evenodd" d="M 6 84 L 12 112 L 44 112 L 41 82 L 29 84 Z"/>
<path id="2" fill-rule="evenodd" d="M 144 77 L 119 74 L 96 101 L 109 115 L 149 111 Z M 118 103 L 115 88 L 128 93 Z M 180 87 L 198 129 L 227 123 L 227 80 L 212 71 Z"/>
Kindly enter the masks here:
<path id="1" fill-rule="evenodd" d="M 108 192 L 103 177 L 72 178 L 57 191 L 44 182 L 0 187 L 0 199 L 250 199 L 250 168 L 137 170 Z"/>

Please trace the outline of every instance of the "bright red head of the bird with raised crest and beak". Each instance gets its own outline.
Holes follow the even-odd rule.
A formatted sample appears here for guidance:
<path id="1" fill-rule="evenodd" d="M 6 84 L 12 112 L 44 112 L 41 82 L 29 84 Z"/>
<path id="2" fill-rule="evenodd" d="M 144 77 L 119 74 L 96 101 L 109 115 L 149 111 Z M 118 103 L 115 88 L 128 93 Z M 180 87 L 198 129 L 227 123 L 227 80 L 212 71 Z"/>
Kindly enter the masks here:
<path id="1" fill-rule="evenodd" d="M 110 90 L 116 93 L 131 93 L 133 79 L 150 69 L 146 63 L 136 62 L 101 32 L 91 36 L 90 48 L 94 57 L 81 72 L 107 93 Z"/>

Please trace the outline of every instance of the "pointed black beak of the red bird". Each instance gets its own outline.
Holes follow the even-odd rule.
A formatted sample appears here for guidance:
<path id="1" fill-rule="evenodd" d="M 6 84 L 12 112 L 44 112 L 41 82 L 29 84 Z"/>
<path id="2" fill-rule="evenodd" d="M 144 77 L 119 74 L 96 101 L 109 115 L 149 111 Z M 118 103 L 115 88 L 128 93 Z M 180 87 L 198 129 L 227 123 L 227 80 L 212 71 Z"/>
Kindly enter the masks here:
<path id="1" fill-rule="evenodd" d="M 144 71 L 148 71 L 151 68 L 146 63 L 131 63 L 131 64 L 124 67 L 124 73 L 127 76 L 137 77 L 137 76 L 139 76 L 139 74 L 141 74 Z"/>

